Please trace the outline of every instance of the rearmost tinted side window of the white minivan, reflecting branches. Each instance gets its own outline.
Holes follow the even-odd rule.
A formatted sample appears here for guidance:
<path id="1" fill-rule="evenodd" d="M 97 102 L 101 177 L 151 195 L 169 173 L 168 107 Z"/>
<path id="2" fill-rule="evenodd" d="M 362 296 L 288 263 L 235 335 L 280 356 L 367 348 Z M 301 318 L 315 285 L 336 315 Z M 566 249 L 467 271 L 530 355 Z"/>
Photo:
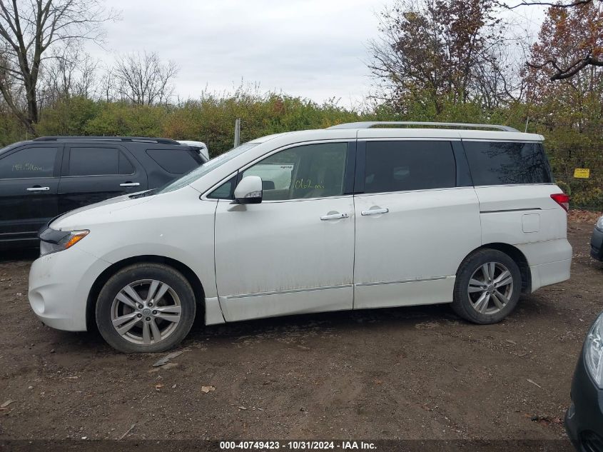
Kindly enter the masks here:
<path id="1" fill-rule="evenodd" d="M 552 182 L 539 143 L 464 141 L 463 144 L 475 186 Z"/>

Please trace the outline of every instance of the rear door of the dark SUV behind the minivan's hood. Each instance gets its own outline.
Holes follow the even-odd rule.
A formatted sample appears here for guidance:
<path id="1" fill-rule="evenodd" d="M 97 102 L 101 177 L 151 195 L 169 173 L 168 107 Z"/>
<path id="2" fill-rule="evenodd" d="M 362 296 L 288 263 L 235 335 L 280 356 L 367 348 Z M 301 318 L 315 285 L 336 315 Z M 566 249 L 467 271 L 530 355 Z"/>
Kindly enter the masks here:
<path id="1" fill-rule="evenodd" d="M 122 194 L 147 189 L 146 171 L 121 146 L 67 145 L 59 184 L 64 213 Z"/>

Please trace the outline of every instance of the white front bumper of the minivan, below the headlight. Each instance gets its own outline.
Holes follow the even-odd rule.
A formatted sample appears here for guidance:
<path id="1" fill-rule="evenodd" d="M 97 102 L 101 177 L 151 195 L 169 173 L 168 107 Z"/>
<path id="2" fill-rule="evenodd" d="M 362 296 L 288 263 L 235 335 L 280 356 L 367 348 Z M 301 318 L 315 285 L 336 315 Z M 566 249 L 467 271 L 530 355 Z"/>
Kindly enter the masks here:
<path id="1" fill-rule="evenodd" d="M 42 256 L 29 271 L 29 305 L 46 325 L 86 331 L 88 294 L 110 263 L 74 246 Z"/>

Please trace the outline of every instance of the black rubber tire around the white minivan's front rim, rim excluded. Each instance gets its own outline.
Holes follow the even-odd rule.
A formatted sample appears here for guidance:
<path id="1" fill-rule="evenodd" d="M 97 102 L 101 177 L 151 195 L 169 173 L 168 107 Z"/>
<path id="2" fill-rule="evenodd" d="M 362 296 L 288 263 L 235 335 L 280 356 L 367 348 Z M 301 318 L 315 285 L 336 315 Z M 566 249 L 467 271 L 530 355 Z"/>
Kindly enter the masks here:
<path id="1" fill-rule="evenodd" d="M 111 322 L 111 305 L 122 288 L 133 281 L 156 279 L 173 288 L 180 298 L 182 307 L 181 320 L 168 338 L 160 343 L 139 345 L 121 337 Z M 191 285 L 181 273 L 160 263 L 138 263 L 122 268 L 111 276 L 98 294 L 96 302 L 96 326 L 105 341 L 123 353 L 157 353 L 169 350 L 181 343 L 193 326 L 196 314 L 195 295 Z"/>

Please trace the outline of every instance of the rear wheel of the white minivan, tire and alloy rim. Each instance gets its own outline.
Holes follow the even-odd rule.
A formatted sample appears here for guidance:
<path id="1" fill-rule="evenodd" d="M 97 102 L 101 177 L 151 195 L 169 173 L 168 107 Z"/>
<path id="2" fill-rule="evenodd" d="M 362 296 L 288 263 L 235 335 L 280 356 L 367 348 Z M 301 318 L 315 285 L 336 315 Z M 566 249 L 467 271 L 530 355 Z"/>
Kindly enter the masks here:
<path id="1" fill-rule="evenodd" d="M 452 309 L 472 323 L 497 323 L 515 309 L 521 288 L 522 277 L 517 263 L 502 251 L 482 249 L 461 263 Z"/>

